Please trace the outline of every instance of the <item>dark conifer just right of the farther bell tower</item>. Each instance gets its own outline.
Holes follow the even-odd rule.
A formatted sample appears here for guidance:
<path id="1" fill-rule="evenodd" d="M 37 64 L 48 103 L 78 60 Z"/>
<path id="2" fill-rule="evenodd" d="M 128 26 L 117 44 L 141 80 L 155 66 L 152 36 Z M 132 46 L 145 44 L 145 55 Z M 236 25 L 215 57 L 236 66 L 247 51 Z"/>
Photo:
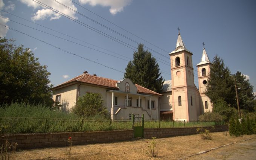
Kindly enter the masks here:
<path id="1" fill-rule="evenodd" d="M 224 62 L 217 55 L 213 58 L 211 72 L 206 84 L 205 94 L 214 104 L 218 99 L 223 99 L 227 104 L 236 106 L 236 93 L 230 70 L 225 67 Z"/>

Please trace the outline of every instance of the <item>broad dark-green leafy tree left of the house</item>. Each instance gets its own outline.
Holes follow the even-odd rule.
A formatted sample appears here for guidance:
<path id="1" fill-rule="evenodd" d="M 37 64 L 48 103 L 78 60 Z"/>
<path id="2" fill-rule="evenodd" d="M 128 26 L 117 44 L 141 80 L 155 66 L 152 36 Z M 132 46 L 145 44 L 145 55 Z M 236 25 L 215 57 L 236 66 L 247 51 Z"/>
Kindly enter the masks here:
<path id="1" fill-rule="evenodd" d="M 0 104 L 53 104 L 49 75 L 30 49 L 0 38 Z"/>

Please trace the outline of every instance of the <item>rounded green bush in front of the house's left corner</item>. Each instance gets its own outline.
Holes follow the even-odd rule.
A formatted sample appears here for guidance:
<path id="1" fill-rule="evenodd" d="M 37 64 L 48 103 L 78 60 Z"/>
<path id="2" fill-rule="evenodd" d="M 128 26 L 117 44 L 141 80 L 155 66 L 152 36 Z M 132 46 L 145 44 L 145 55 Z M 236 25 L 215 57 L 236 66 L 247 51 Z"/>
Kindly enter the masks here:
<path id="1" fill-rule="evenodd" d="M 101 116 L 107 118 L 108 110 L 104 107 L 103 102 L 100 93 L 86 93 L 78 98 L 73 112 L 81 117 Z"/>

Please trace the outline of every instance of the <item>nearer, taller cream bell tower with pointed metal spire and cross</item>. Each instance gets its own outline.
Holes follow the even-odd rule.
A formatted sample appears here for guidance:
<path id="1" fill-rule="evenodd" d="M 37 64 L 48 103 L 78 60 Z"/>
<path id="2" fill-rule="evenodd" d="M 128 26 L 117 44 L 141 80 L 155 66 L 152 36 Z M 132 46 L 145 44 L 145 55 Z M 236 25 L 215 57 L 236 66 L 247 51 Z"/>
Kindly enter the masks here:
<path id="1" fill-rule="evenodd" d="M 186 49 L 179 28 L 178 31 L 176 48 L 169 53 L 171 59 L 173 119 L 197 120 L 194 69 L 192 65 L 193 53 Z"/>

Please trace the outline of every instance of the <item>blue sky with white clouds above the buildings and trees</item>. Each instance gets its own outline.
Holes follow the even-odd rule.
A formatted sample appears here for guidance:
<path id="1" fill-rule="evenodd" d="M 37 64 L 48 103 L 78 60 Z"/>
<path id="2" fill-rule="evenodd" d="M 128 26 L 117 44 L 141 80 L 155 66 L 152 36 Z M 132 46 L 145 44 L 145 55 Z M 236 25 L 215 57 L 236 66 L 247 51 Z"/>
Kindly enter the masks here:
<path id="1" fill-rule="evenodd" d="M 0 36 L 14 38 L 17 45 L 30 48 L 41 65 L 48 66 L 49 79 L 56 86 L 84 71 L 121 80 L 137 43 L 143 43 L 157 58 L 162 76 L 169 80 L 168 53 L 175 49 L 180 27 L 186 48 L 194 54 L 197 86 L 195 65 L 201 60 L 204 42 L 211 61 L 220 56 L 231 73 L 239 70 L 247 75 L 255 91 L 255 7 L 254 0 L 0 0 Z"/>

